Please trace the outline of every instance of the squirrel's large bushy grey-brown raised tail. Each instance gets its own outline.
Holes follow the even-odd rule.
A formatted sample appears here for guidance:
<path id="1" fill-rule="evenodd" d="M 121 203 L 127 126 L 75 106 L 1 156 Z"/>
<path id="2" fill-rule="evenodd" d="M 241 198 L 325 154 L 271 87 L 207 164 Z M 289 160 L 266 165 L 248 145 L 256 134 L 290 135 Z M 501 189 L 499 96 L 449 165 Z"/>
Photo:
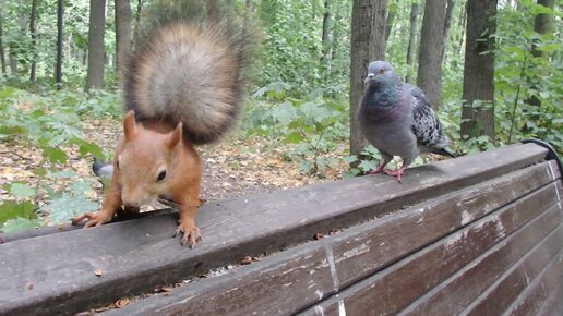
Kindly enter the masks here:
<path id="1" fill-rule="evenodd" d="M 244 49 L 218 27 L 158 26 L 131 57 L 124 75 L 125 109 L 136 121 L 183 123 L 195 144 L 216 141 L 241 107 Z"/>

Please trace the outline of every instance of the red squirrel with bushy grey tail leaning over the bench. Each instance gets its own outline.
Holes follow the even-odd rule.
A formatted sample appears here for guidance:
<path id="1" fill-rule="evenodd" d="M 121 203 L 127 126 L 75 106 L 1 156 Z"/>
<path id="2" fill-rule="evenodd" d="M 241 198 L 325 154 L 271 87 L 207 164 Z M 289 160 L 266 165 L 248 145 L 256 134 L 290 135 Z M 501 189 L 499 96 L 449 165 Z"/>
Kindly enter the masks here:
<path id="1" fill-rule="evenodd" d="M 217 141 L 241 107 L 243 45 L 221 29 L 185 23 L 158 26 L 131 57 L 123 77 L 127 114 L 101 207 L 73 218 L 85 227 L 111 221 L 121 207 L 155 198 L 179 210 L 175 236 L 192 247 L 201 232 L 201 159 L 194 145 Z"/>

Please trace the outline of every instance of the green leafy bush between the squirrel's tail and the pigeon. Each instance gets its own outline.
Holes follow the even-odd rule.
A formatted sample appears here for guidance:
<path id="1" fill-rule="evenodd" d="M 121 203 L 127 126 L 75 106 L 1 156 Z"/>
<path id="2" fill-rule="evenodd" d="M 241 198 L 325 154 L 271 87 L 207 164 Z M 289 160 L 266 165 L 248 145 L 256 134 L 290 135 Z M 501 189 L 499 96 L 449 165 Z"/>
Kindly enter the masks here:
<path id="1" fill-rule="evenodd" d="M 323 89 L 303 99 L 288 97 L 290 90 L 291 86 L 282 82 L 260 88 L 247 106 L 244 130 L 294 144 L 300 171 L 322 174 L 325 168 L 336 166 L 337 159 L 330 154 L 349 136 L 348 104 L 323 97 Z"/>

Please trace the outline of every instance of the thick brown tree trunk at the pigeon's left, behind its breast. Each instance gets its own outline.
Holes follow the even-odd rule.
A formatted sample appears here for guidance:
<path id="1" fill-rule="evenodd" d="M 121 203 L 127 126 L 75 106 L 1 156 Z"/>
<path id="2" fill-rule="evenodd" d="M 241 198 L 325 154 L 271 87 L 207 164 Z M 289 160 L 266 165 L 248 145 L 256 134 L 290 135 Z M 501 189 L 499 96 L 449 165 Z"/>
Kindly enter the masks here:
<path id="1" fill-rule="evenodd" d="M 368 64 L 385 53 L 385 11 L 387 1 L 354 0 L 350 36 L 350 154 L 366 145 L 356 112 L 363 94 Z"/>

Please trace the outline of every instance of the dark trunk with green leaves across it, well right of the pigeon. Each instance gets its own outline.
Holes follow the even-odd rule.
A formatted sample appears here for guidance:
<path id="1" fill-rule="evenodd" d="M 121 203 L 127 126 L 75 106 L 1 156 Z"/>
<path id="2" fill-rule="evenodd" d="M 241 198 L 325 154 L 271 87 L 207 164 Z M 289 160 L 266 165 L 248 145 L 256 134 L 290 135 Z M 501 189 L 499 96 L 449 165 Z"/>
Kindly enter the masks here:
<path id="1" fill-rule="evenodd" d="M 494 141 L 494 37 L 496 0 L 467 1 L 462 137 Z"/>

